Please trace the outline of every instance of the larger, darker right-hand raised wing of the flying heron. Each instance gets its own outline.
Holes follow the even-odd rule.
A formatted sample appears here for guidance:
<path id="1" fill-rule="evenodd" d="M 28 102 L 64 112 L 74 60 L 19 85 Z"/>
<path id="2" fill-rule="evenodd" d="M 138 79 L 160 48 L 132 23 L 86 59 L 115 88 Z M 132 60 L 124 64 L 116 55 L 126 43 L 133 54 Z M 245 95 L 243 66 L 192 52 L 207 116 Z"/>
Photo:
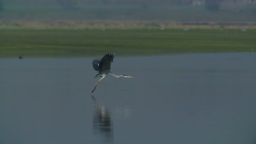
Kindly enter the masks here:
<path id="1" fill-rule="evenodd" d="M 113 62 L 114 55 L 115 53 L 108 53 L 101 58 L 100 64 L 98 65 L 98 73 L 102 73 L 103 71 L 110 71 L 110 66 Z"/>

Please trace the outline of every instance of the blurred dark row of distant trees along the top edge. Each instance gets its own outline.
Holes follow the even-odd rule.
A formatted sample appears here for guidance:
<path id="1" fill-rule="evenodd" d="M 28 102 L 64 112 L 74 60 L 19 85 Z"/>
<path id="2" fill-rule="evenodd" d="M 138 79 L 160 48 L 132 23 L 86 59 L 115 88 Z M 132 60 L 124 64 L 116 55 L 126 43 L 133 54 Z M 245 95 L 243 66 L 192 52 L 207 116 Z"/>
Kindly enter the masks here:
<path id="1" fill-rule="evenodd" d="M 62 9 L 73 10 L 78 4 L 82 5 L 111 5 L 111 4 L 127 4 L 140 5 L 141 8 L 149 8 L 154 5 L 189 5 L 200 3 L 205 5 L 205 8 L 211 11 L 218 11 L 222 3 L 256 3 L 256 0 L 0 0 L 0 11 L 4 9 L 4 1 L 22 2 L 22 3 L 37 3 L 37 2 L 54 2 L 59 4 Z"/>

